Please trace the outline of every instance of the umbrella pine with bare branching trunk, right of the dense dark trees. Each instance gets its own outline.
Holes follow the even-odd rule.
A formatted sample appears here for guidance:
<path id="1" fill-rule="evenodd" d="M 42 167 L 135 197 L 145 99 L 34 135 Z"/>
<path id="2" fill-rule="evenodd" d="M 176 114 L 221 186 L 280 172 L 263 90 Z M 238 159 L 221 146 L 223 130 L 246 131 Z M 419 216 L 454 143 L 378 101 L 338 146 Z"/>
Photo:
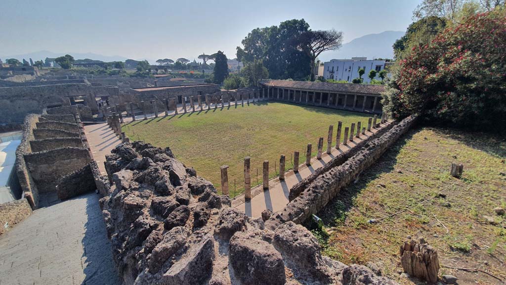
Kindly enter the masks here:
<path id="1" fill-rule="evenodd" d="M 315 66 L 316 58 L 324 51 L 339 49 L 343 43 L 343 33 L 335 30 L 306 31 L 293 38 L 298 50 L 305 52 Z M 311 68 L 311 81 L 315 80 L 315 68 Z"/>

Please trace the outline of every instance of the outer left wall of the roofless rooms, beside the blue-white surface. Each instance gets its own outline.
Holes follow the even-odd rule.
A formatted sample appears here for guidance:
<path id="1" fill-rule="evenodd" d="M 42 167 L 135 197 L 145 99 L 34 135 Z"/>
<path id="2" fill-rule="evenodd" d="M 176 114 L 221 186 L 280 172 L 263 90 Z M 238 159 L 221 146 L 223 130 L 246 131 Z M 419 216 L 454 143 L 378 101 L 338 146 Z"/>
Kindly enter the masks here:
<path id="1" fill-rule="evenodd" d="M 34 139 L 32 131 L 35 128 L 35 123 L 38 122 L 39 116 L 40 115 L 35 114 L 29 114 L 26 116 L 23 124 L 23 138 L 16 149 L 15 164 L 16 174 L 18 176 L 21 190 L 33 209 L 35 209 L 38 204 L 38 189 L 31 178 L 28 168 L 26 167 L 24 155 L 31 153 L 30 140 Z"/>

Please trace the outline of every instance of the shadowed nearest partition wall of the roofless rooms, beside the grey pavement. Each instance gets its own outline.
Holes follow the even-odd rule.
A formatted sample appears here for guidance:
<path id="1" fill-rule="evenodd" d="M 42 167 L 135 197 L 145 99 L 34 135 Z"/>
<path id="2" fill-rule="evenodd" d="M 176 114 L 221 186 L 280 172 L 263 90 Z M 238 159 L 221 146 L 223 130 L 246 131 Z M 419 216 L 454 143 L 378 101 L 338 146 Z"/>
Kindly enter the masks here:
<path id="1" fill-rule="evenodd" d="M 63 176 L 56 186 L 56 193 L 60 200 L 75 197 L 80 194 L 95 191 L 97 186 L 93 179 L 93 173 L 90 164 Z"/>

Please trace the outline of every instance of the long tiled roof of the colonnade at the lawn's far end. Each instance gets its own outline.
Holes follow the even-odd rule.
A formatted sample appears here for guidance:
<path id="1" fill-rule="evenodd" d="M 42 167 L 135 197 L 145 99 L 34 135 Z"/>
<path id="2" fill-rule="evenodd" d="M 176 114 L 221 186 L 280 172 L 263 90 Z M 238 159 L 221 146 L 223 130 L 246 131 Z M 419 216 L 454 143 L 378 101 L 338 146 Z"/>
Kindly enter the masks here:
<path id="1" fill-rule="evenodd" d="M 327 83 L 292 80 L 262 80 L 260 83 L 268 87 L 294 88 L 308 91 L 332 93 L 381 95 L 381 93 L 385 91 L 385 86 L 371 84 Z"/>

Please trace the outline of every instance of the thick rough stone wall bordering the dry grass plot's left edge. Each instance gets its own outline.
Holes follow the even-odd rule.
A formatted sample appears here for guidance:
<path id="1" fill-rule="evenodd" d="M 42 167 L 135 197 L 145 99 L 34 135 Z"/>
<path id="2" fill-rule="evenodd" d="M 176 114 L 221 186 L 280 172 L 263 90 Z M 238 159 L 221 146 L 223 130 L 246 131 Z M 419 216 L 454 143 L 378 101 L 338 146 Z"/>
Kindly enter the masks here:
<path id="1" fill-rule="evenodd" d="M 368 141 L 366 146 L 344 164 L 334 167 L 315 179 L 295 199 L 278 213 L 275 213 L 266 222 L 268 228 L 277 228 L 279 225 L 294 222 L 301 224 L 319 210 L 330 200 L 337 196 L 340 190 L 350 184 L 356 177 L 371 166 L 383 153 L 406 133 L 415 123 L 417 117 L 410 116 L 402 120 L 381 137 Z"/>

